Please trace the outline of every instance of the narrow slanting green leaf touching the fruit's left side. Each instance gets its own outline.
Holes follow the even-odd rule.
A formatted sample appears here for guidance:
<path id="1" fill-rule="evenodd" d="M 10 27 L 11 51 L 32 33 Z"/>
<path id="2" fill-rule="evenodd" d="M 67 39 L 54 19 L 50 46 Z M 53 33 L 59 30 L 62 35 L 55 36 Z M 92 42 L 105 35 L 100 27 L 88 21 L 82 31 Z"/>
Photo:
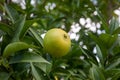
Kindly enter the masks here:
<path id="1" fill-rule="evenodd" d="M 29 30 L 32 33 L 35 40 L 37 41 L 37 43 L 43 47 L 43 39 L 42 39 L 42 37 L 33 28 L 29 28 Z"/>

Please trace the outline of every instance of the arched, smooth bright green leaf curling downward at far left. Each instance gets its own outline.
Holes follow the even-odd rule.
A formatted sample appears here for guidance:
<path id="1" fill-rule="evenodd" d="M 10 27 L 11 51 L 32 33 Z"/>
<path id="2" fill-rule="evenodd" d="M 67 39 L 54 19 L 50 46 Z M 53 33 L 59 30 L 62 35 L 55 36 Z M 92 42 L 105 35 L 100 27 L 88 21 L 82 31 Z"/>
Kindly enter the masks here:
<path id="1" fill-rule="evenodd" d="M 10 43 L 5 47 L 4 52 L 3 52 L 3 57 L 8 57 L 17 51 L 28 49 L 31 47 L 33 47 L 33 46 L 31 46 L 27 43 L 24 43 L 24 42 Z"/>

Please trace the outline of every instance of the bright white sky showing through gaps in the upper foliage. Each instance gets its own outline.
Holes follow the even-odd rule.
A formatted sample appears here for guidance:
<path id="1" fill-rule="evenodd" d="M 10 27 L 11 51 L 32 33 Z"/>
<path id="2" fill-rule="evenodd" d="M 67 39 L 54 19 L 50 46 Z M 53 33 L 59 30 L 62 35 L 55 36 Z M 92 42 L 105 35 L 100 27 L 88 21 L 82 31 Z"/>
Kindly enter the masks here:
<path id="1" fill-rule="evenodd" d="M 15 3 L 20 3 L 21 7 L 23 9 L 25 9 L 25 0 L 12 0 L 13 2 Z M 97 4 L 97 1 L 96 0 L 91 0 L 93 2 L 93 4 Z M 31 0 L 31 4 L 34 6 L 35 5 L 35 0 Z M 49 10 L 53 10 L 54 8 L 56 7 L 56 4 L 55 3 L 48 3 L 46 6 L 45 6 L 45 9 L 47 12 L 49 12 Z M 118 19 L 120 21 L 120 8 L 116 9 L 114 11 L 115 14 L 118 15 Z M 94 11 L 93 15 L 97 15 L 97 11 Z M 91 30 L 93 32 L 97 32 L 98 34 L 101 34 L 101 33 L 104 33 L 105 31 L 101 31 L 100 30 L 100 27 L 101 27 L 101 23 L 98 22 L 98 23 L 95 23 L 93 22 L 89 17 L 88 18 L 80 18 L 79 19 L 79 23 L 84 26 L 86 29 L 86 32 L 88 30 Z M 70 38 L 71 39 L 75 39 L 75 40 L 78 40 L 79 39 L 79 36 L 80 35 L 77 35 L 76 33 L 80 31 L 81 29 L 81 26 L 79 25 L 79 23 L 75 23 L 73 22 L 73 24 L 71 25 L 71 30 L 70 32 L 68 33 L 70 35 Z M 64 28 L 65 26 L 61 26 L 61 28 Z M 41 36 L 44 37 L 45 34 L 42 34 Z M 86 34 L 87 35 L 87 34 Z"/>

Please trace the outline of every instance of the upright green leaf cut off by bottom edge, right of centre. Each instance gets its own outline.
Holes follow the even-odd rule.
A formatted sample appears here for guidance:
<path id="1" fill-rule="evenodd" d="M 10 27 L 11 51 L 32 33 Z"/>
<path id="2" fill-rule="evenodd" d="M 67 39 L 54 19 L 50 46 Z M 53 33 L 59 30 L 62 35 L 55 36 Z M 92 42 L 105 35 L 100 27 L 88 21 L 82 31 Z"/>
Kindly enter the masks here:
<path id="1" fill-rule="evenodd" d="M 105 80 L 101 70 L 94 64 L 92 64 L 92 67 L 90 68 L 90 75 L 92 80 Z"/>

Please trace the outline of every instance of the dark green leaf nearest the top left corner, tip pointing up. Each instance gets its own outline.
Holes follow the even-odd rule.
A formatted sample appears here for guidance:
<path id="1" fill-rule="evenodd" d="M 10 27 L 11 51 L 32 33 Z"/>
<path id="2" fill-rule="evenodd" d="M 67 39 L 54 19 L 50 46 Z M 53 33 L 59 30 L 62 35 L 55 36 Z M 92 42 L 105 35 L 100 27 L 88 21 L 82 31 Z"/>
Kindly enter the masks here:
<path id="1" fill-rule="evenodd" d="M 19 18 L 18 12 L 13 7 L 11 7 L 7 4 L 4 4 L 4 6 L 5 6 L 5 10 L 6 10 L 7 14 L 9 15 L 12 23 L 15 23 Z"/>

